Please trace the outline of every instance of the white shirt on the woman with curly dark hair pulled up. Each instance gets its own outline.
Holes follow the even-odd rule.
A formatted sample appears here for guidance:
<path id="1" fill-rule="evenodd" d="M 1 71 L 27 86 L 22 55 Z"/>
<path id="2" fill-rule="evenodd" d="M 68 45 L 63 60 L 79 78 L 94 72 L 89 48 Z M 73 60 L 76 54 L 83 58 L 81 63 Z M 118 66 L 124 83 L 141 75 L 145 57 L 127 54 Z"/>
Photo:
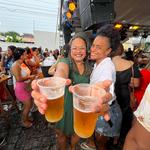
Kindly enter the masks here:
<path id="1" fill-rule="evenodd" d="M 109 57 L 102 60 L 98 65 L 94 64 L 94 69 L 90 76 L 90 84 L 95 84 L 97 82 L 101 82 L 104 80 L 111 80 L 112 84 L 110 86 L 110 93 L 112 94 L 112 100 L 109 104 L 112 103 L 113 100 L 116 99 L 116 95 L 114 93 L 114 84 L 116 81 L 116 70 L 113 62 Z"/>

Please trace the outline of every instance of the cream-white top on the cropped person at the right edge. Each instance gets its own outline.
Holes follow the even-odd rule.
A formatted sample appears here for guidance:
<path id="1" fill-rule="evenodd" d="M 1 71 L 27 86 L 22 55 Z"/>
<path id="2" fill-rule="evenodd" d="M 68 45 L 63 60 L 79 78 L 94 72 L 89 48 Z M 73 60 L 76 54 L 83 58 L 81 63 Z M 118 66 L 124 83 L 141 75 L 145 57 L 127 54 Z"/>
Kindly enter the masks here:
<path id="1" fill-rule="evenodd" d="M 150 132 L 150 83 L 134 115 L 137 117 L 139 123 Z"/>

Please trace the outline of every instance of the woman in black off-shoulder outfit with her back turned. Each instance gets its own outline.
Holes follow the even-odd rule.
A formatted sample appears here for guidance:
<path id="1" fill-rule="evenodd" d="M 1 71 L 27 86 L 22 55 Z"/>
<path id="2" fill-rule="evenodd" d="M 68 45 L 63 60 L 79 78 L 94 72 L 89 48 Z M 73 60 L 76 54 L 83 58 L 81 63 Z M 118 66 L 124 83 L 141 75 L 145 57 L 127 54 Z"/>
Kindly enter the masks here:
<path id="1" fill-rule="evenodd" d="M 111 54 L 112 61 L 116 68 L 116 100 L 120 105 L 123 115 L 120 137 L 118 141 L 115 142 L 116 144 L 120 143 L 120 145 L 123 145 L 126 135 L 131 128 L 133 120 L 133 111 L 130 105 L 129 85 L 131 80 L 134 80 L 133 86 L 134 88 L 137 88 L 140 84 L 141 76 L 138 67 L 136 66 L 136 64 L 134 64 L 133 61 L 122 58 L 123 53 L 124 48 L 123 45 L 120 44 L 117 50 Z M 134 77 L 132 76 L 132 71 L 134 71 Z"/>

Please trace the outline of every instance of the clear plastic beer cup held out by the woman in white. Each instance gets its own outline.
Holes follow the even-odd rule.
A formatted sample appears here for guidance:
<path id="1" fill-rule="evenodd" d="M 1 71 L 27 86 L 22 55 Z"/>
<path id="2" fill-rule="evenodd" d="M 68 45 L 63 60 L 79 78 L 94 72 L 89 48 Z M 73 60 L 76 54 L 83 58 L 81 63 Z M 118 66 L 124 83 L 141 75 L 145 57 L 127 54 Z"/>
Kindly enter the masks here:
<path id="1" fill-rule="evenodd" d="M 79 137 L 88 138 L 94 132 L 99 115 L 94 112 L 94 106 L 106 92 L 102 88 L 81 83 L 73 86 L 72 93 L 74 131 Z"/>

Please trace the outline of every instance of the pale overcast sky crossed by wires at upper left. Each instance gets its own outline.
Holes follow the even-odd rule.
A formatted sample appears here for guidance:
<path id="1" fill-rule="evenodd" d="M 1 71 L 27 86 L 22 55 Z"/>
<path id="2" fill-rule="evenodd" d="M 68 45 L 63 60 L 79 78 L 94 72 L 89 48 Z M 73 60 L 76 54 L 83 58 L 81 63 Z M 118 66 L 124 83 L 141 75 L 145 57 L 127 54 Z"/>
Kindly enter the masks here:
<path id="1" fill-rule="evenodd" d="M 55 32 L 60 0 L 0 0 L 0 32 Z"/>

